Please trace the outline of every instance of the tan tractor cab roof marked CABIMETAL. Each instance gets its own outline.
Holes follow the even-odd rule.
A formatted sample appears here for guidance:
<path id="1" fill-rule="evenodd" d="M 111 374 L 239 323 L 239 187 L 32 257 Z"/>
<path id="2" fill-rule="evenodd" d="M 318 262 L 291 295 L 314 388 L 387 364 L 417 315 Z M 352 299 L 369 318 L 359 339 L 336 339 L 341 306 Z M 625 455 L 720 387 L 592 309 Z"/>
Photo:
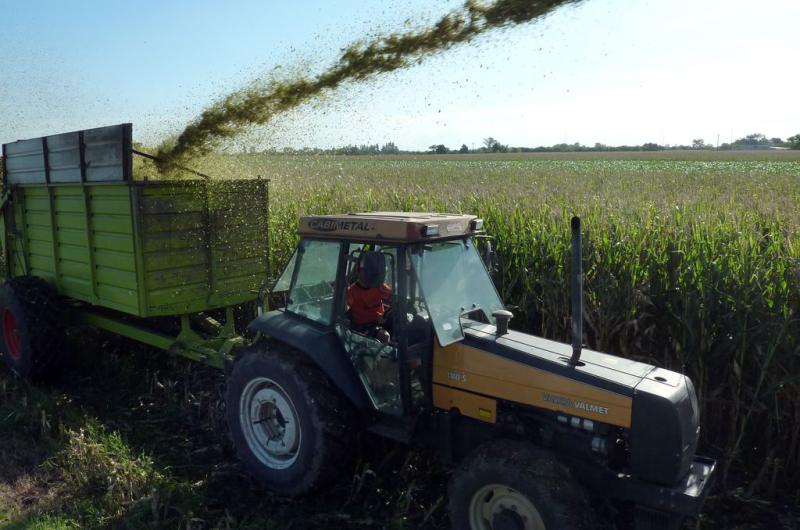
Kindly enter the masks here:
<path id="1" fill-rule="evenodd" d="M 414 243 L 481 233 L 474 215 L 428 212 L 365 212 L 300 218 L 301 236 Z"/>

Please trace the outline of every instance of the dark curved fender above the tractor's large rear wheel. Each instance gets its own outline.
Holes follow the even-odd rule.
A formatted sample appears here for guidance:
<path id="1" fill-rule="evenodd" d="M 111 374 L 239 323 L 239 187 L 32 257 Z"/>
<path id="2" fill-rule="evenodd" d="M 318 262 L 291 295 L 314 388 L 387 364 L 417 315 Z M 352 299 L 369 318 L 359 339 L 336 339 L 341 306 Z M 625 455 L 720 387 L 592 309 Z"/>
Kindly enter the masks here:
<path id="1" fill-rule="evenodd" d="M 301 317 L 279 310 L 264 313 L 253 320 L 247 329 L 302 351 L 354 406 L 359 409 L 371 407 L 364 386 L 333 330 L 320 329 Z"/>

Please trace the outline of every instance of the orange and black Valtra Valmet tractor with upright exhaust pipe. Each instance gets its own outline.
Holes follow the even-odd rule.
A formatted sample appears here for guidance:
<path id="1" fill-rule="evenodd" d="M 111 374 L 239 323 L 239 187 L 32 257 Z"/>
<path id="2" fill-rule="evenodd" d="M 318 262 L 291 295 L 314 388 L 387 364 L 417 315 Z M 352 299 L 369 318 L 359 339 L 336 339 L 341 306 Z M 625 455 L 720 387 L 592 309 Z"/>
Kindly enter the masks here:
<path id="1" fill-rule="evenodd" d="M 481 219 L 303 217 L 271 288 L 283 307 L 251 323 L 258 339 L 226 367 L 239 456 L 294 496 L 342 476 L 360 429 L 439 448 L 455 529 L 593 528 L 592 498 L 628 506 L 640 529 L 696 515 L 715 463 L 695 454 L 692 382 L 582 349 L 572 229 L 567 345 L 509 330 L 475 246 Z"/>

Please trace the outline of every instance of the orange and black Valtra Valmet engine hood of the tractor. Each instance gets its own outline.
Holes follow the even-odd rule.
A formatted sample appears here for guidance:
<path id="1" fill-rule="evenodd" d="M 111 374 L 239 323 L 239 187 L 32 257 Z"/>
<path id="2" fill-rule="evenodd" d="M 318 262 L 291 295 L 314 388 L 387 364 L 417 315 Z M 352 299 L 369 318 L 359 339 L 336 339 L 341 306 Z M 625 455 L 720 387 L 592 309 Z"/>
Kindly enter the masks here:
<path id="1" fill-rule="evenodd" d="M 630 472 L 664 485 L 689 472 L 699 437 L 691 380 L 676 372 L 583 350 L 571 366 L 570 345 L 487 324 L 465 326 L 464 340 L 437 344 L 434 378 L 472 390 L 628 430 Z M 453 381 L 453 373 L 460 374 Z M 438 377 L 437 377 L 438 376 Z"/>

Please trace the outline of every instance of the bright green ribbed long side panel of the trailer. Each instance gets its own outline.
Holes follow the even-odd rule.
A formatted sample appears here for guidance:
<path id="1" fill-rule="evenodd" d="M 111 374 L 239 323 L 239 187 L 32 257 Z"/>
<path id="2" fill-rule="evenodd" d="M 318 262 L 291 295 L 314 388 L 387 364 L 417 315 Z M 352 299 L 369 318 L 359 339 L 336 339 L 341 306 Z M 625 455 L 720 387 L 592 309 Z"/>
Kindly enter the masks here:
<path id="1" fill-rule="evenodd" d="M 139 314 L 127 184 L 28 185 L 15 192 L 13 272 L 65 297 Z"/>

